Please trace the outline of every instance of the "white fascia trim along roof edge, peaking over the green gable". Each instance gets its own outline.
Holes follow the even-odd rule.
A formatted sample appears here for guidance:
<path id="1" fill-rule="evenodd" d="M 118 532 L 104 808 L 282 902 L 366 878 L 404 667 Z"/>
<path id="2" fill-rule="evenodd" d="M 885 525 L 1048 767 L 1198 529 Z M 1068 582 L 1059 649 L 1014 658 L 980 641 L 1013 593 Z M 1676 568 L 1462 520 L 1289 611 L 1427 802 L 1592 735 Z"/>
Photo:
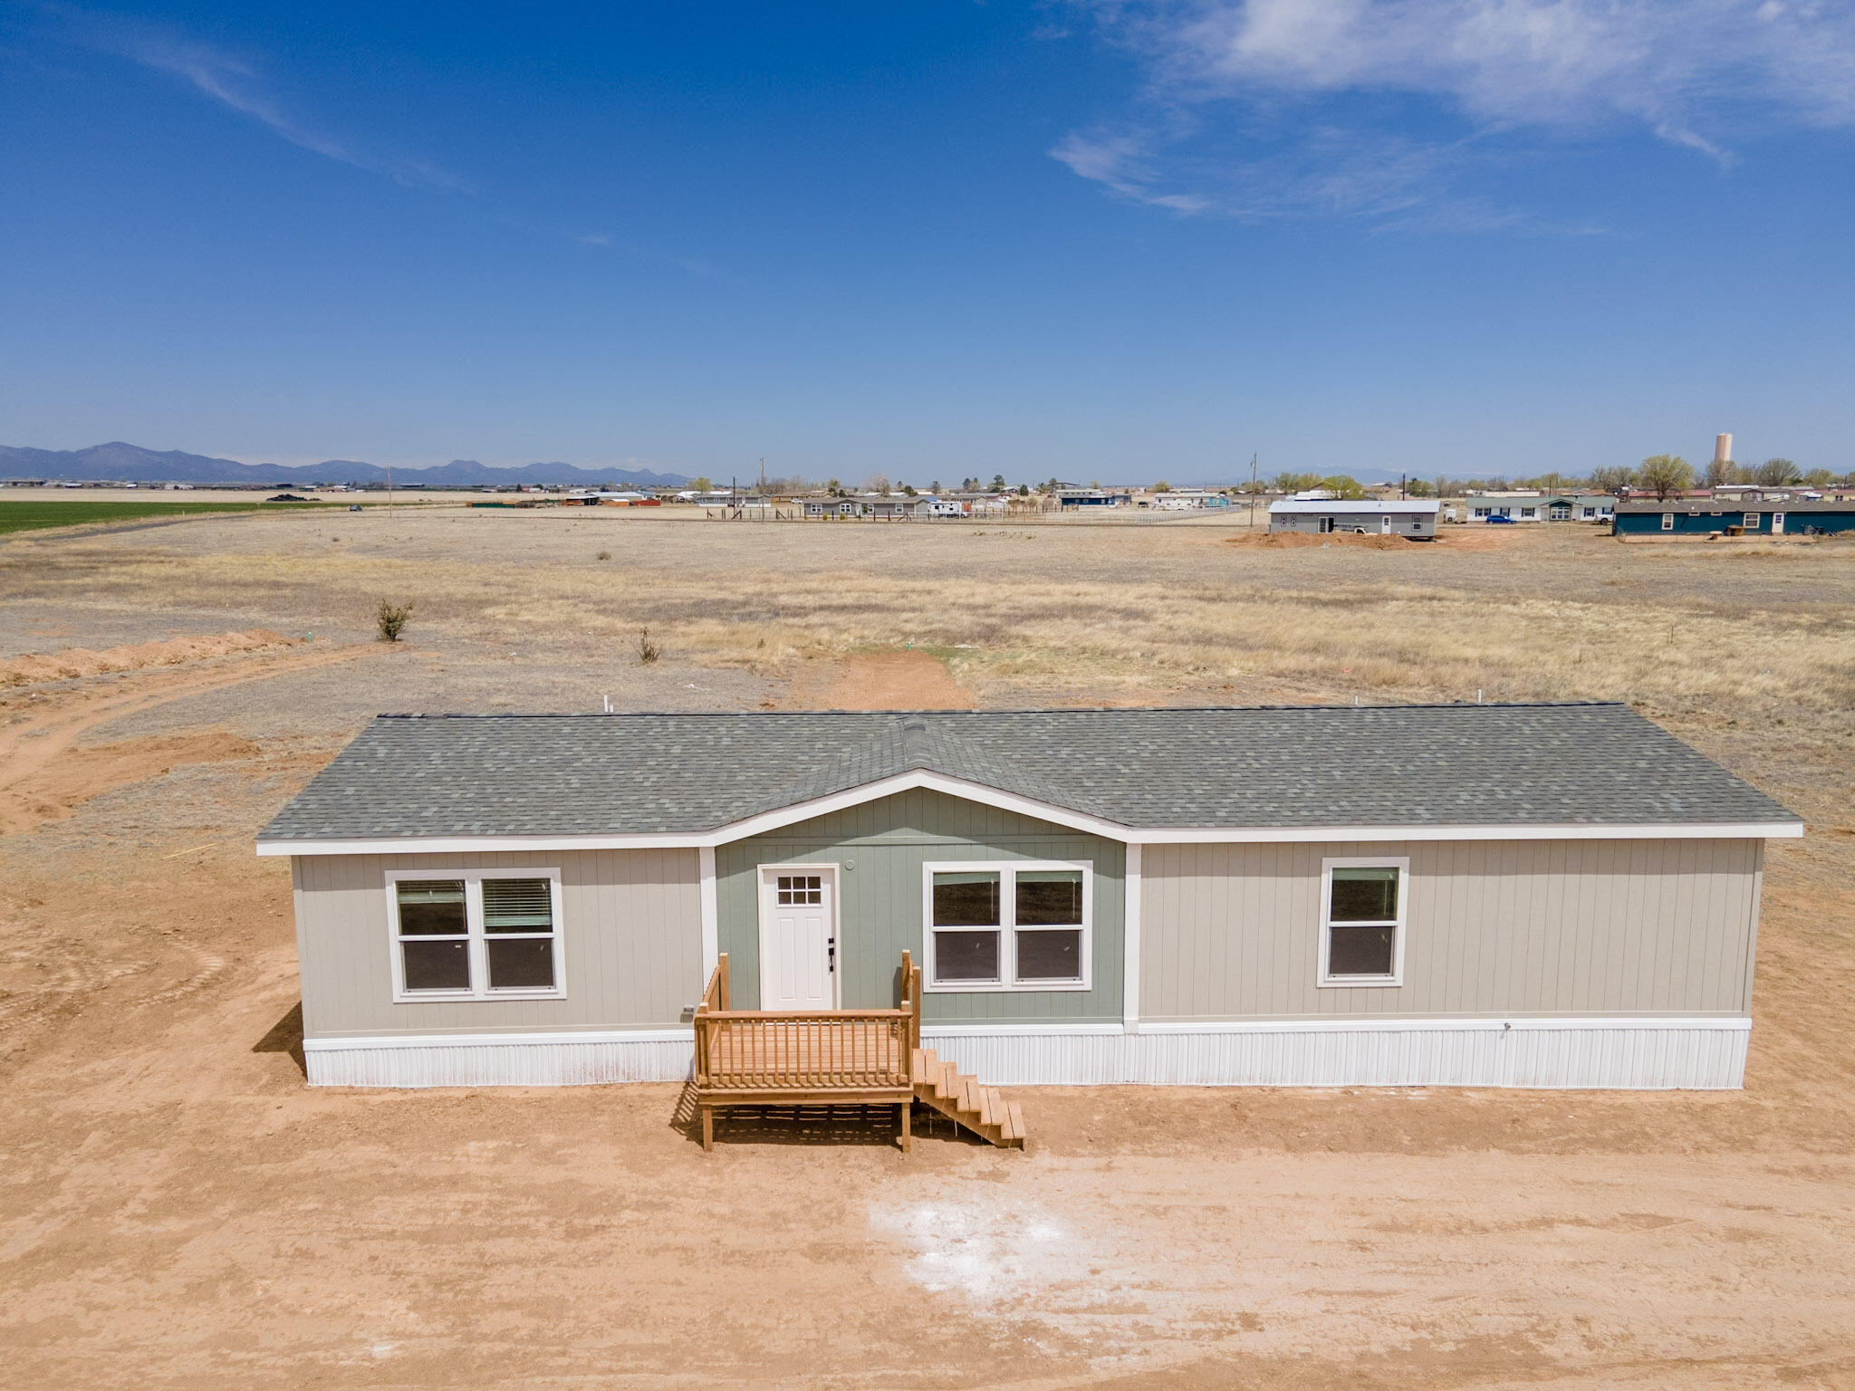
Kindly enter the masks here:
<path id="1" fill-rule="evenodd" d="M 1746 823 L 1625 823 L 1625 825 L 1252 825 L 1252 827 L 1139 827 L 1120 825 L 1102 816 L 1089 816 L 1048 801 L 1020 798 L 1015 792 L 916 770 L 898 773 L 863 786 L 833 792 L 827 798 L 798 801 L 759 816 L 749 816 L 714 831 L 659 833 L 659 835 L 518 835 L 518 836 L 364 836 L 330 840 L 260 840 L 260 855 L 486 855 L 495 851 L 545 849 L 690 849 L 725 846 L 733 840 L 777 831 L 814 816 L 825 816 L 848 807 L 892 798 L 898 792 L 928 788 L 965 798 L 985 807 L 1031 816 L 1072 831 L 1143 846 L 1189 844 L 1308 844 L 1334 840 L 1775 840 L 1803 835 L 1803 822 L 1746 822 Z"/>

